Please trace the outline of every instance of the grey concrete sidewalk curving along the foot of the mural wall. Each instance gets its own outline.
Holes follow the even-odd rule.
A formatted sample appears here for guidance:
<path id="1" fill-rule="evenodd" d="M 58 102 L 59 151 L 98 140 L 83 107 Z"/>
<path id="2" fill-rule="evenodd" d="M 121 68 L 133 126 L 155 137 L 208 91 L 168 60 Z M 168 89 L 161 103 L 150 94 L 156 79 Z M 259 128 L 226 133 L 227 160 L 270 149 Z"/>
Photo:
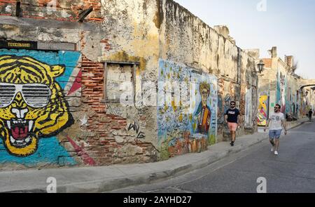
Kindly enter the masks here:
<path id="1" fill-rule="evenodd" d="M 299 126 L 305 121 L 294 121 L 288 128 Z M 228 142 L 220 142 L 209 147 L 207 152 L 185 154 L 157 163 L 3 171 L 0 172 L 0 192 L 46 192 L 46 180 L 49 177 L 56 178 L 57 192 L 106 192 L 157 182 L 203 168 L 263 140 L 267 140 L 267 133 L 245 135 L 237 138 L 235 147 L 230 147 Z"/>

